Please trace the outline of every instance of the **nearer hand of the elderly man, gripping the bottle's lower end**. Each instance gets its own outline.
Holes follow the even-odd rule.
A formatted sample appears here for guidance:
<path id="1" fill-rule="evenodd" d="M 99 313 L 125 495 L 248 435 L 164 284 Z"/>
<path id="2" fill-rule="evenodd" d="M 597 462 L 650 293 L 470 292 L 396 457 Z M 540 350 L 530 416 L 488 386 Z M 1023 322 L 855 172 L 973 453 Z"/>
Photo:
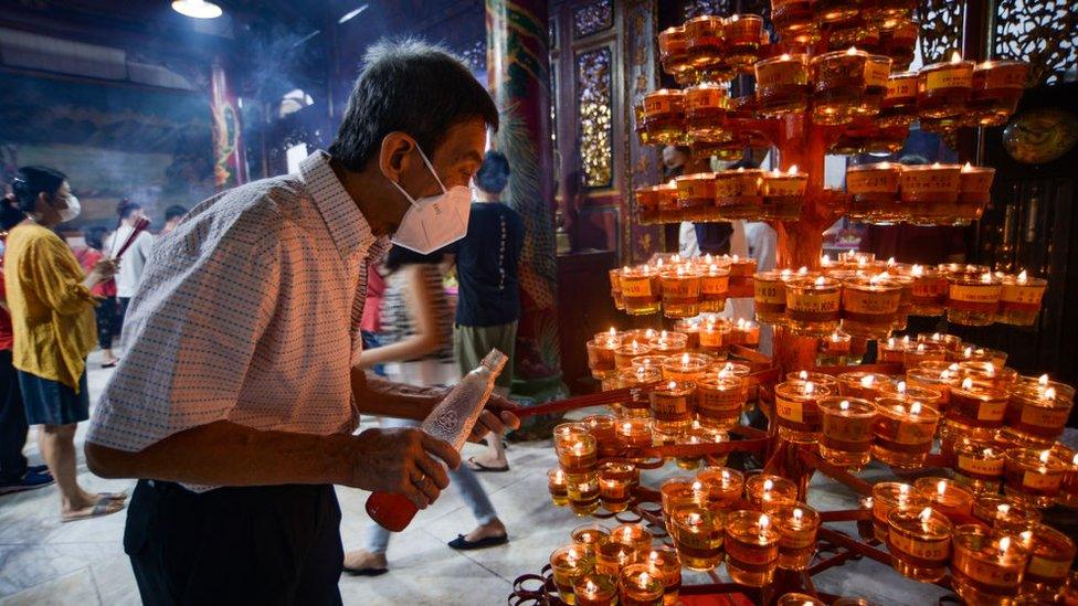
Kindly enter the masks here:
<path id="1" fill-rule="evenodd" d="M 395 492 L 425 509 L 450 486 L 445 467 L 456 469 L 461 455 L 452 446 L 419 428 L 371 428 L 351 438 L 347 486 Z"/>

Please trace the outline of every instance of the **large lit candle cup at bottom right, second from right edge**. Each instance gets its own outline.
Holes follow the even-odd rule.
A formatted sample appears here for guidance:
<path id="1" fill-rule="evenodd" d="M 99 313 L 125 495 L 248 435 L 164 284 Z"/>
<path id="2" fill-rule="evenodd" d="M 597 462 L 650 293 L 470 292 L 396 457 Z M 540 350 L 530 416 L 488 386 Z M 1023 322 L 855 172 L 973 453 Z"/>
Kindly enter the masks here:
<path id="1" fill-rule="evenodd" d="M 954 529 L 951 585 L 966 604 L 1011 606 L 1029 552 L 1017 536 L 996 536 L 979 524 Z"/>

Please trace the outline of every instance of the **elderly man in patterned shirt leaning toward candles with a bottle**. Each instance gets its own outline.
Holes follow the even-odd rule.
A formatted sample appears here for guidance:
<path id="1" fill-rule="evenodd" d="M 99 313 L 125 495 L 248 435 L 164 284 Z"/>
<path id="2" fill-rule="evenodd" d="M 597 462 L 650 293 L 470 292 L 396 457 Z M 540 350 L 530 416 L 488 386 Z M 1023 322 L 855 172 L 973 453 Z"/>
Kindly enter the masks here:
<path id="1" fill-rule="evenodd" d="M 139 478 L 124 547 L 145 603 L 339 604 L 332 485 L 420 508 L 447 486 L 448 444 L 352 435 L 360 413 L 423 418 L 444 392 L 352 362 L 368 262 L 390 235 L 420 252 L 464 235 L 497 125 L 455 57 L 378 44 L 328 153 L 202 202 L 161 240 L 86 444 L 95 474 Z M 517 423 L 488 411 L 475 433 Z"/>

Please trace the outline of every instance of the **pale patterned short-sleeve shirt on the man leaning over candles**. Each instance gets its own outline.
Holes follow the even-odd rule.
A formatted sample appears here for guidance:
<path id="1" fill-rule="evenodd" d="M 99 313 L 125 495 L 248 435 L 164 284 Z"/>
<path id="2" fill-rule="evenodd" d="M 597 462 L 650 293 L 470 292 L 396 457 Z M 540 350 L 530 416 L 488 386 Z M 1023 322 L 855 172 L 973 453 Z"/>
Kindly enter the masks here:
<path id="1" fill-rule="evenodd" d="M 87 439 L 138 451 L 218 421 L 353 430 L 367 262 L 387 245 L 321 151 L 202 202 L 155 247 Z"/>

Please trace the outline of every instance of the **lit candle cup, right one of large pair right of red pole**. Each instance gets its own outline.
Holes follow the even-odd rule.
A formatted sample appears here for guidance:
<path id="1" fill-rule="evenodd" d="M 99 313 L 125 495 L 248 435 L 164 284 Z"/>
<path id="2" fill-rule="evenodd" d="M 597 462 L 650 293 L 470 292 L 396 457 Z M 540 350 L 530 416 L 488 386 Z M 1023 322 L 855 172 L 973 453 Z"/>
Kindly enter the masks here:
<path id="1" fill-rule="evenodd" d="M 940 414 L 920 402 L 895 397 L 876 401 L 873 457 L 898 469 L 918 469 L 932 449 Z"/>

